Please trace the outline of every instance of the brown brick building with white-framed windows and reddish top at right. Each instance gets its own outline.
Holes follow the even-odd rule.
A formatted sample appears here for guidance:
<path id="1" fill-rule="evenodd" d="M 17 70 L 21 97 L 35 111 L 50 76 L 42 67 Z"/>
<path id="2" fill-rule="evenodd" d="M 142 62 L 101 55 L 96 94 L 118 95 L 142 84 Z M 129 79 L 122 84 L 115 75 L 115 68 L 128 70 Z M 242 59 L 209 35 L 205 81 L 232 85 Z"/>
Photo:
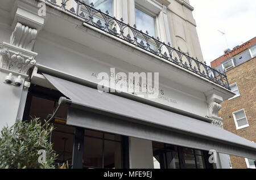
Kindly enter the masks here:
<path id="1" fill-rule="evenodd" d="M 229 56 L 230 55 L 230 56 Z M 219 112 L 224 129 L 256 142 L 256 37 L 228 50 L 211 62 L 211 66 L 226 71 L 230 87 L 236 96 L 222 102 Z M 232 168 L 255 168 L 254 161 L 230 156 Z"/>

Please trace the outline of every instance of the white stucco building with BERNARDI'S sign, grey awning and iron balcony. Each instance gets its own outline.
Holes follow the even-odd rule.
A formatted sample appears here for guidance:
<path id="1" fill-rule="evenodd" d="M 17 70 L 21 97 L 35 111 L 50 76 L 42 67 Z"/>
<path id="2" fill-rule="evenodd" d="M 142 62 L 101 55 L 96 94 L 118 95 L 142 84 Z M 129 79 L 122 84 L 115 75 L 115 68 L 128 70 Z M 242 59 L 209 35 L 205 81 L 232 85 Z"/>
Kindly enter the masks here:
<path id="1" fill-rule="evenodd" d="M 222 130 L 220 102 L 234 93 L 204 64 L 192 11 L 182 0 L 3 0 L 0 128 L 47 118 L 65 97 L 52 140 L 73 168 L 230 168 L 228 154 L 255 158 L 255 143 Z M 159 95 L 102 94 L 101 72 L 159 72 Z"/>

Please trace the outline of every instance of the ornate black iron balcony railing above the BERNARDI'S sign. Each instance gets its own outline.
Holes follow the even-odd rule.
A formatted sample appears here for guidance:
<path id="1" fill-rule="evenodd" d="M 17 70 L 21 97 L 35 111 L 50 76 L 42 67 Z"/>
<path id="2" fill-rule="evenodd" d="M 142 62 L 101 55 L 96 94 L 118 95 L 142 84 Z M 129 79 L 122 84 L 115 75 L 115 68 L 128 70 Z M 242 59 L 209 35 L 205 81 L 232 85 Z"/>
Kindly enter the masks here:
<path id="1" fill-rule="evenodd" d="M 158 37 L 151 37 L 148 32 L 139 31 L 134 24 L 133 27 L 125 24 L 123 19 L 116 19 L 109 15 L 109 12 L 102 12 L 94 8 L 93 3 L 86 5 L 79 0 L 44 0 L 45 2 L 60 8 L 61 10 L 71 13 L 79 18 L 84 19 L 84 23 L 92 25 L 110 35 L 121 38 L 130 44 L 146 50 L 158 57 L 166 59 L 169 62 L 179 65 L 186 70 L 192 71 L 222 87 L 230 89 L 226 72 L 222 74 L 212 67 L 190 57 L 189 53 L 181 52 L 180 48 L 172 48 L 170 42 L 167 44 L 161 42 Z"/>

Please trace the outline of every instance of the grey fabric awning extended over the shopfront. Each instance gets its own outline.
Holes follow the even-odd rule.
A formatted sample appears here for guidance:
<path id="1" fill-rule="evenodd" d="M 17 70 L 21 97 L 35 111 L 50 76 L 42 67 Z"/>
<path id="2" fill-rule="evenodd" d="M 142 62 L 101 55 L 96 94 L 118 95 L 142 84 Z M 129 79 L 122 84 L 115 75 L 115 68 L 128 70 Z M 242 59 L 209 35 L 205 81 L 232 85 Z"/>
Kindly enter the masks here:
<path id="1" fill-rule="evenodd" d="M 70 99 L 67 124 L 256 159 L 256 144 L 210 123 L 44 74 Z"/>

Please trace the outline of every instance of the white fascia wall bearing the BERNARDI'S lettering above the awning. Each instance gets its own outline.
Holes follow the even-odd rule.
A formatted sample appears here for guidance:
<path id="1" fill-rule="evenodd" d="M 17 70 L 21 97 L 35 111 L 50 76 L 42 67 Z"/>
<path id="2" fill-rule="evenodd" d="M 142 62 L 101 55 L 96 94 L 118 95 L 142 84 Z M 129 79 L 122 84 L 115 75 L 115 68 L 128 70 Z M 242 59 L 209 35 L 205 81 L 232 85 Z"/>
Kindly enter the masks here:
<path id="1" fill-rule="evenodd" d="M 152 72 L 146 68 L 131 65 L 122 59 L 102 54 L 95 49 L 81 46 L 72 41 L 52 36 L 47 32 L 42 37 L 38 37 L 35 45 L 35 52 L 39 55 L 36 61 L 44 65 L 67 74 L 77 76 L 90 82 L 98 83 L 100 80 L 93 75 L 100 72 L 110 72 L 110 68 L 116 68 L 117 72 Z M 149 63 L 147 64 L 149 66 Z M 154 66 L 154 65 L 152 65 Z M 203 93 L 195 91 L 181 84 L 182 82 L 172 82 L 164 78 L 164 73 L 159 72 L 159 88 L 163 90 L 159 97 L 152 101 L 159 102 L 173 108 L 185 110 L 190 113 L 198 114 L 203 117 L 207 115 L 207 105 Z M 179 76 L 176 77 L 177 79 Z"/>

